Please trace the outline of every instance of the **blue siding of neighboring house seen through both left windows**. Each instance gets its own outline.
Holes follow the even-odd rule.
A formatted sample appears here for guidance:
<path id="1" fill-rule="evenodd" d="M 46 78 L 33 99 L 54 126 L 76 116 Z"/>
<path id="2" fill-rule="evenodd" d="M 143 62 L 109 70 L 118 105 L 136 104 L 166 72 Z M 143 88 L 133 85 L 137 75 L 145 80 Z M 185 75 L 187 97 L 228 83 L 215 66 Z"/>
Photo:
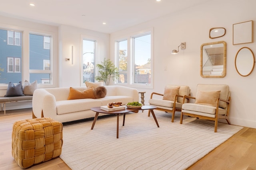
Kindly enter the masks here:
<path id="1" fill-rule="evenodd" d="M 9 82 L 18 83 L 22 81 L 22 46 L 7 45 L 7 38 L 7 30 L 0 29 L 0 68 L 4 69 L 4 71 L 0 71 L 0 84 L 8 84 Z M 21 72 L 7 72 L 7 57 L 21 59 Z M 44 49 L 44 36 L 30 34 L 29 69 L 44 70 L 44 60 L 50 61 L 50 49 Z M 30 82 L 37 80 L 38 84 L 40 84 L 43 79 L 50 80 L 50 74 L 30 73 Z"/>

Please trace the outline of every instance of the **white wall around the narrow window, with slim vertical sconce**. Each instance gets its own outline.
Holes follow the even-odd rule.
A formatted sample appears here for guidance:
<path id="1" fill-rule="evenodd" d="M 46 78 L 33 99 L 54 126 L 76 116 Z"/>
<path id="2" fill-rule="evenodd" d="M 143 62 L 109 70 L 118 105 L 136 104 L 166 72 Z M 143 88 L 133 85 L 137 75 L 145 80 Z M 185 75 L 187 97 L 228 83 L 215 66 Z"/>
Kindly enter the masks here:
<path id="1" fill-rule="evenodd" d="M 68 25 L 59 27 L 59 86 L 75 87 L 80 86 L 81 82 L 81 39 L 87 37 L 96 40 L 96 64 L 104 58 L 109 58 L 109 39 L 110 35 L 99 33 L 87 29 L 76 28 Z M 74 64 L 71 64 L 72 48 L 74 49 Z M 66 61 L 70 58 L 70 61 Z M 83 84 L 84 85 L 84 84 Z"/>

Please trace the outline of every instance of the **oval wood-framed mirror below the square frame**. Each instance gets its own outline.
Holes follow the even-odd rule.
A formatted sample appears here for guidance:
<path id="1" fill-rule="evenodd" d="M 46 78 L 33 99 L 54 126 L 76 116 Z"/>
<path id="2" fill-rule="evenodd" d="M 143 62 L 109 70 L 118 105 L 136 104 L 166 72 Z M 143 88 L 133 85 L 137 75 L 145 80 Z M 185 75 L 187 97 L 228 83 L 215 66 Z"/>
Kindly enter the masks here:
<path id="1" fill-rule="evenodd" d="M 242 47 L 236 53 L 235 66 L 236 71 L 241 76 L 248 76 L 251 74 L 255 64 L 254 54 L 248 47 Z"/>

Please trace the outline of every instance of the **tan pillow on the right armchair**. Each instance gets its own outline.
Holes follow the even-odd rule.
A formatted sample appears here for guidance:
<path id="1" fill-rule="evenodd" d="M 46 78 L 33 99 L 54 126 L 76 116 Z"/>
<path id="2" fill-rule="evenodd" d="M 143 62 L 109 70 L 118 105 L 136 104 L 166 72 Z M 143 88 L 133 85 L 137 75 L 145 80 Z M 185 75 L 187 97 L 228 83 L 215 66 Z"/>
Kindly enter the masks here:
<path id="1" fill-rule="evenodd" d="M 220 96 L 219 91 L 202 91 L 196 92 L 196 104 L 205 104 L 210 106 L 216 106 L 216 102 Z"/>

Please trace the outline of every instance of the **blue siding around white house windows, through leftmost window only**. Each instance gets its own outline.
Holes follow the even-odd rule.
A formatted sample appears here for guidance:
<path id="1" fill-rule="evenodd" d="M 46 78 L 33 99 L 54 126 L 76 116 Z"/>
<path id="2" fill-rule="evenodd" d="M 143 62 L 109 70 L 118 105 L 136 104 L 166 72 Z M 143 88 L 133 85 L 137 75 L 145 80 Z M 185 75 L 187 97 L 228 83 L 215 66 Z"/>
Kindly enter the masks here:
<path id="1" fill-rule="evenodd" d="M 21 41 L 22 45 L 22 41 Z M 18 83 L 22 81 L 22 59 L 20 60 L 21 72 L 7 72 L 7 57 L 22 58 L 22 46 L 7 45 L 7 30 L 0 29 L 0 83 Z"/>

